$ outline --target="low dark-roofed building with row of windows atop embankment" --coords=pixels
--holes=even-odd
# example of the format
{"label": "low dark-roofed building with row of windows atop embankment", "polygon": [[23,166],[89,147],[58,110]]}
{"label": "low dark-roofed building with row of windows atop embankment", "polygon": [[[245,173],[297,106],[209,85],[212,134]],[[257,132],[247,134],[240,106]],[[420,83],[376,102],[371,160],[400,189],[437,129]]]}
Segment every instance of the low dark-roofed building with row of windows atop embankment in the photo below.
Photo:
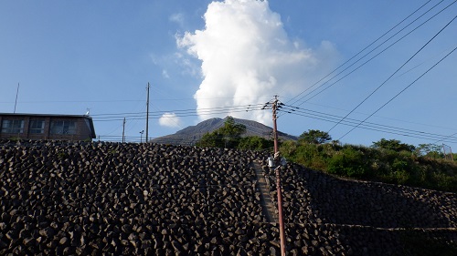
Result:
{"label": "low dark-roofed building with row of windows atop embankment", "polygon": [[89,116],[0,113],[0,138],[91,140],[96,137]]}

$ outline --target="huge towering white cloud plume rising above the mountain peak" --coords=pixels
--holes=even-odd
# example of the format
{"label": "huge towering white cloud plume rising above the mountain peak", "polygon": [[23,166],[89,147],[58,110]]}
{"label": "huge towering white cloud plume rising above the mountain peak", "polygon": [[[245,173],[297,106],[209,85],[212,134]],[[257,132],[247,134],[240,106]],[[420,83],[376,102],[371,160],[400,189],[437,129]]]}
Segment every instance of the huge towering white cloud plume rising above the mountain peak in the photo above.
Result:
{"label": "huge towering white cloud plume rising above the mountain peak", "polygon": [[[178,47],[201,61],[201,82],[194,97],[200,119],[204,109],[264,103],[272,96],[294,97],[312,85],[335,60],[335,46],[304,48],[285,32],[281,16],[268,1],[212,2],[204,30],[177,36]],[[268,111],[228,113],[271,123]]]}

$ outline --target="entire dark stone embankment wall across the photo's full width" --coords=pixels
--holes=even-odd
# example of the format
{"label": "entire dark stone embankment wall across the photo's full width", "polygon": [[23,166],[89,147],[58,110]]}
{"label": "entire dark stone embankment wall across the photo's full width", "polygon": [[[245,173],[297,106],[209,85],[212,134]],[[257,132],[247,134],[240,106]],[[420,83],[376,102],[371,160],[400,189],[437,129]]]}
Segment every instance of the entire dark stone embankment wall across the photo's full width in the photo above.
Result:
{"label": "entire dark stone embankment wall across the photo's full width", "polygon": [[[252,165],[265,159],[218,148],[3,141],[0,254],[279,255]],[[297,165],[282,175],[290,255],[414,255],[411,234],[457,243],[455,194]]]}

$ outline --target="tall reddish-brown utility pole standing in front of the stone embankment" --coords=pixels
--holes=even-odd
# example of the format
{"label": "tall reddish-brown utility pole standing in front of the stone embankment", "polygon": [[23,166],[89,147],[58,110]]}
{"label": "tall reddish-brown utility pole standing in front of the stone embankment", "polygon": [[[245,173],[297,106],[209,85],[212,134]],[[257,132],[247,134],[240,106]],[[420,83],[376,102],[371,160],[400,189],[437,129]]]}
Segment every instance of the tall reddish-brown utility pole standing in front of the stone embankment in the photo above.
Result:
{"label": "tall reddish-brown utility pole standing in front of the stone embankment", "polygon": [[273,138],[274,138],[274,157],[276,164],[276,189],[278,194],[278,220],[280,222],[280,242],[281,242],[281,255],[285,256],[285,235],[284,235],[284,221],[282,220],[282,193],[281,193],[281,173],[280,173],[280,159],[278,157],[278,128],[276,125],[276,110],[278,109],[278,97],[275,96],[273,102]]}

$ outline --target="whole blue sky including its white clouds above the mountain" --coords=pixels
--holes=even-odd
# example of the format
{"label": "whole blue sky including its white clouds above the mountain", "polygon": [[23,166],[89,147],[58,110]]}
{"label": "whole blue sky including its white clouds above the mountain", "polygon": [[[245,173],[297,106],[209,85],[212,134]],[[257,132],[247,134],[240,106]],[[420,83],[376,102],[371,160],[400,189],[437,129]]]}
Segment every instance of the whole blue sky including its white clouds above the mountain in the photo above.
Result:
{"label": "whole blue sky including its white clouds above the mountain", "polygon": [[101,140],[120,140],[126,118],[139,141],[149,82],[150,138],[227,115],[271,126],[260,105],[278,95],[292,135],[457,151],[453,2],[2,1],[0,112],[19,84],[17,113],[90,108]]}

